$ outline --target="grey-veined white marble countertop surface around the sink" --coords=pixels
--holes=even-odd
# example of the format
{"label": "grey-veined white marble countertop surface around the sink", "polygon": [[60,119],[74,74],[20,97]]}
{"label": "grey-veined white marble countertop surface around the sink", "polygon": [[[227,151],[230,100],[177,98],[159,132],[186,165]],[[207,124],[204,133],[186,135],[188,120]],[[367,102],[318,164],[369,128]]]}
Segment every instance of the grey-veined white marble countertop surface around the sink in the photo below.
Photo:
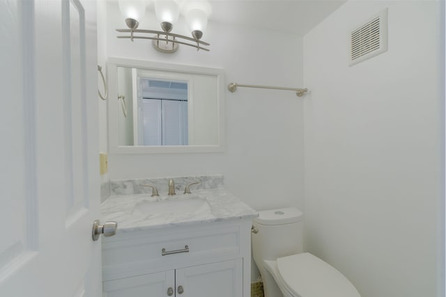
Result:
{"label": "grey-veined white marble countertop surface around the sink", "polygon": [[[144,202],[206,199],[208,204],[193,212],[141,214],[134,211],[137,204]],[[148,204],[146,204],[148,205]],[[236,196],[222,188],[193,191],[192,194],[151,197],[150,194],[115,195],[101,204],[101,221],[116,220],[118,232],[134,232],[164,227],[178,227],[200,223],[255,218],[258,212],[241,202]]]}

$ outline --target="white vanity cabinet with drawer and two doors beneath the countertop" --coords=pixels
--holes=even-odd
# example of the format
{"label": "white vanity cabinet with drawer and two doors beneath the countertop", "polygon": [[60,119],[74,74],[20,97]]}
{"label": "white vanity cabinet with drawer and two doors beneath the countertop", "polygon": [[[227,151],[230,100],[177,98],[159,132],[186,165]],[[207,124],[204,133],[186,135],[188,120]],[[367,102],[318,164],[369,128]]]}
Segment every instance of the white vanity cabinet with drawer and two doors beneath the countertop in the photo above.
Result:
{"label": "white vanity cabinet with drawer and two doors beneath the countertop", "polygon": [[103,239],[104,296],[250,296],[251,222],[123,230]]}

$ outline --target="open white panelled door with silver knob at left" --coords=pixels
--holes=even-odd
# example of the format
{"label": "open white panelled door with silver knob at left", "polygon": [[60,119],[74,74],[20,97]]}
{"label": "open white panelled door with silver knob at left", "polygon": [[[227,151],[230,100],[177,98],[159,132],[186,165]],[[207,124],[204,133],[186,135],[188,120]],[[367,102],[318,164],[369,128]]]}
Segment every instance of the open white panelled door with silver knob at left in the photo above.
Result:
{"label": "open white panelled door with silver knob at left", "polygon": [[95,2],[0,0],[0,296],[100,296]]}

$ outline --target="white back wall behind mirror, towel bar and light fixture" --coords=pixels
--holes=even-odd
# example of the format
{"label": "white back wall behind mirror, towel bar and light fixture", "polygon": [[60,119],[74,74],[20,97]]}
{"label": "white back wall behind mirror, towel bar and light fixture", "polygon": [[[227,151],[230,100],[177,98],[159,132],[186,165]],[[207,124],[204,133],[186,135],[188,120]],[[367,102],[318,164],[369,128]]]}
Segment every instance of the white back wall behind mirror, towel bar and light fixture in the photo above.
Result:
{"label": "white back wall behind mirror, towel bar and light fixture", "polygon": [[[302,86],[302,38],[210,23],[203,36],[210,52],[180,47],[162,54],[150,40],[116,38],[115,29],[125,24],[117,3],[107,3],[101,13],[107,27],[98,33],[100,42],[107,39],[105,56],[222,68],[227,83]],[[155,17],[146,15],[152,20],[140,27],[157,29]],[[174,31],[189,35],[181,24]],[[240,88],[225,95],[224,153],[109,155],[109,178],[222,173],[226,188],[254,209],[303,207],[303,100],[281,90]]]}

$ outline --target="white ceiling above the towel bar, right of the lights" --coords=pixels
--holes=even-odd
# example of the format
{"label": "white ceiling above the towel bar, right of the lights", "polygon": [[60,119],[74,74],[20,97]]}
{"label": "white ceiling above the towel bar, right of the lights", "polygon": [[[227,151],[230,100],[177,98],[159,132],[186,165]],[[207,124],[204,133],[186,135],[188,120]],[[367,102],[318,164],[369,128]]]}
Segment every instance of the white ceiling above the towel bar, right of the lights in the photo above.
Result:
{"label": "white ceiling above the towel bar, right of the lights", "polygon": [[346,0],[210,0],[210,22],[305,35]]}

